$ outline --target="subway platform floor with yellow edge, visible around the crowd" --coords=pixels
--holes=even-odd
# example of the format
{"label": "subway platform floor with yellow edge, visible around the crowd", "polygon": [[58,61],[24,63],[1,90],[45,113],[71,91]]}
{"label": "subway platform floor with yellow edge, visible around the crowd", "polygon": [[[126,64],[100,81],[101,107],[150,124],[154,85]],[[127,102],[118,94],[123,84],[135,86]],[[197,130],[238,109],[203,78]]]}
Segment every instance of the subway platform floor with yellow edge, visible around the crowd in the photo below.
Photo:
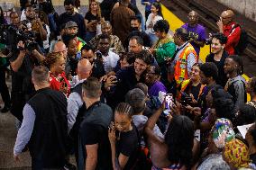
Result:
{"label": "subway platform floor with yellow edge, visible around the crowd", "polygon": [[[168,0],[169,1],[169,0]],[[13,0],[11,1],[15,6],[19,5],[19,1]],[[5,1],[0,0],[0,4],[5,3]],[[79,12],[82,15],[85,15],[87,13],[87,3],[88,1],[81,1],[82,6],[79,10]],[[64,12],[64,6],[63,1],[53,1],[54,7],[58,13]],[[144,6],[141,4],[141,1],[137,1],[137,6],[139,10],[141,11],[143,17],[144,17]],[[184,24],[185,21],[182,21],[178,15],[171,12],[171,8],[165,3],[162,4],[162,13],[164,19],[166,19],[169,22],[170,25],[170,34],[172,34],[177,28],[179,28],[181,25]],[[209,46],[205,46],[200,51],[200,60],[201,62],[205,62],[206,55],[209,53]],[[250,61],[248,61],[248,66]],[[253,61],[251,61],[253,62]],[[253,63],[252,63],[253,64]],[[256,66],[256,65],[254,65]],[[247,65],[245,66],[247,67]],[[250,72],[249,69],[247,69],[247,72]],[[256,73],[255,73],[256,74]],[[251,75],[254,75],[251,74]],[[245,79],[248,80],[249,76],[243,75]],[[8,84],[10,86],[10,83]],[[0,100],[0,105],[3,105],[2,100]],[[21,161],[20,162],[14,162],[13,158],[13,148],[14,148],[14,142],[16,138],[17,130],[15,128],[15,119],[14,116],[8,112],[8,113],[0,113],[0,169],[14,169],[14,170],[26,170],[31,169],[31,158],[29,156],[29,153],[23,153],[21,155]]]}

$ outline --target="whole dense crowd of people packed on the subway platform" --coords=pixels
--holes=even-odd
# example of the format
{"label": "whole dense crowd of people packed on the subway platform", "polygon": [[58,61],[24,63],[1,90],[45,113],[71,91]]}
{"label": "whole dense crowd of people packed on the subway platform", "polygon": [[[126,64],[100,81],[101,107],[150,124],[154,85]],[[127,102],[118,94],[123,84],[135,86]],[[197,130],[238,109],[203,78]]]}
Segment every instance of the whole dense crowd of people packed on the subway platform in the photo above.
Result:
{"label": "whole dense crowd of people packed on the subway platform", "polygon": [[61,14],[21,2],[0,18],[16,161],[29,150],[34,170],[256,169],[256,77],[242,77],[232,10],[210,36],[196,11],[171,36],[159,0],[142,1],[146,18],[133,0],[90,0],[85,16],[74,0]]}

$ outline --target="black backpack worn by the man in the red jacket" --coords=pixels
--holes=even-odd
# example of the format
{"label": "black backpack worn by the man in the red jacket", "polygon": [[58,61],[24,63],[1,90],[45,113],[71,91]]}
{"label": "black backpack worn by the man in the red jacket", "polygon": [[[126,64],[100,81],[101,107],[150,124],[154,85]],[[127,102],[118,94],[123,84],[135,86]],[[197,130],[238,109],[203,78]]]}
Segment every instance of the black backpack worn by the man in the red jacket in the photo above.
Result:
{"label": "black backpack worn by the man in the red jacket", "polygon": [[238,41],[238,44],[234,47],[234,52],[235,54],[242,54],[244,49],[246,49],[247,45],[248,45],[248,34],[247,32],[242,28],[241,25],[236,24],[234,25],[233,29],[231,30],[231,32],[237,28],[240,27],[241,29],[241,34],[240,34],[240,38]]}

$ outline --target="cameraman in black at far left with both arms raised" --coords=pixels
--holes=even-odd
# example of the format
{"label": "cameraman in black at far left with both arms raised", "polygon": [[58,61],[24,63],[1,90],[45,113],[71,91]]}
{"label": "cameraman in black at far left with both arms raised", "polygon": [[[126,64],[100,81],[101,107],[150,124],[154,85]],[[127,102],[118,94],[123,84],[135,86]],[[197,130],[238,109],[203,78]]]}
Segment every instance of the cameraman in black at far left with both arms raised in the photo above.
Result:
{"label": "cameraman in black at far left with both arms raised", "polygon": [[23,106],[32,96],[33,87],[31,81],[32,68],[39,65],[44,59],[37,49],[29,51],[20,40],[16,52],[10,58],[12,73],[12,108],[11,112],[19,120],[23,120]]}

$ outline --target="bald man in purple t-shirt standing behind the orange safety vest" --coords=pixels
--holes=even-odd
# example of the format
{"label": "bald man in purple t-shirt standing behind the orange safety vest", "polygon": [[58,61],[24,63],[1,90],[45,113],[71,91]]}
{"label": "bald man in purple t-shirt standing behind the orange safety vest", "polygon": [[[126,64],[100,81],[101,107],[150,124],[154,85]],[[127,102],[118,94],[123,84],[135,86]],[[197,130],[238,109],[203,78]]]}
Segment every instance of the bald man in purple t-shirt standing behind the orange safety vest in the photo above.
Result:
{"label": "bald man in purple t-shirt standing behind the orange safety vest", "polygon": [[197,12],[189,12],[187,18],[188,22],[181,27],[187,30],[189,41],[196,50],[197,56],[199,56],[200,48],[205,46],[206,28],[198,23],[199,17]]}

